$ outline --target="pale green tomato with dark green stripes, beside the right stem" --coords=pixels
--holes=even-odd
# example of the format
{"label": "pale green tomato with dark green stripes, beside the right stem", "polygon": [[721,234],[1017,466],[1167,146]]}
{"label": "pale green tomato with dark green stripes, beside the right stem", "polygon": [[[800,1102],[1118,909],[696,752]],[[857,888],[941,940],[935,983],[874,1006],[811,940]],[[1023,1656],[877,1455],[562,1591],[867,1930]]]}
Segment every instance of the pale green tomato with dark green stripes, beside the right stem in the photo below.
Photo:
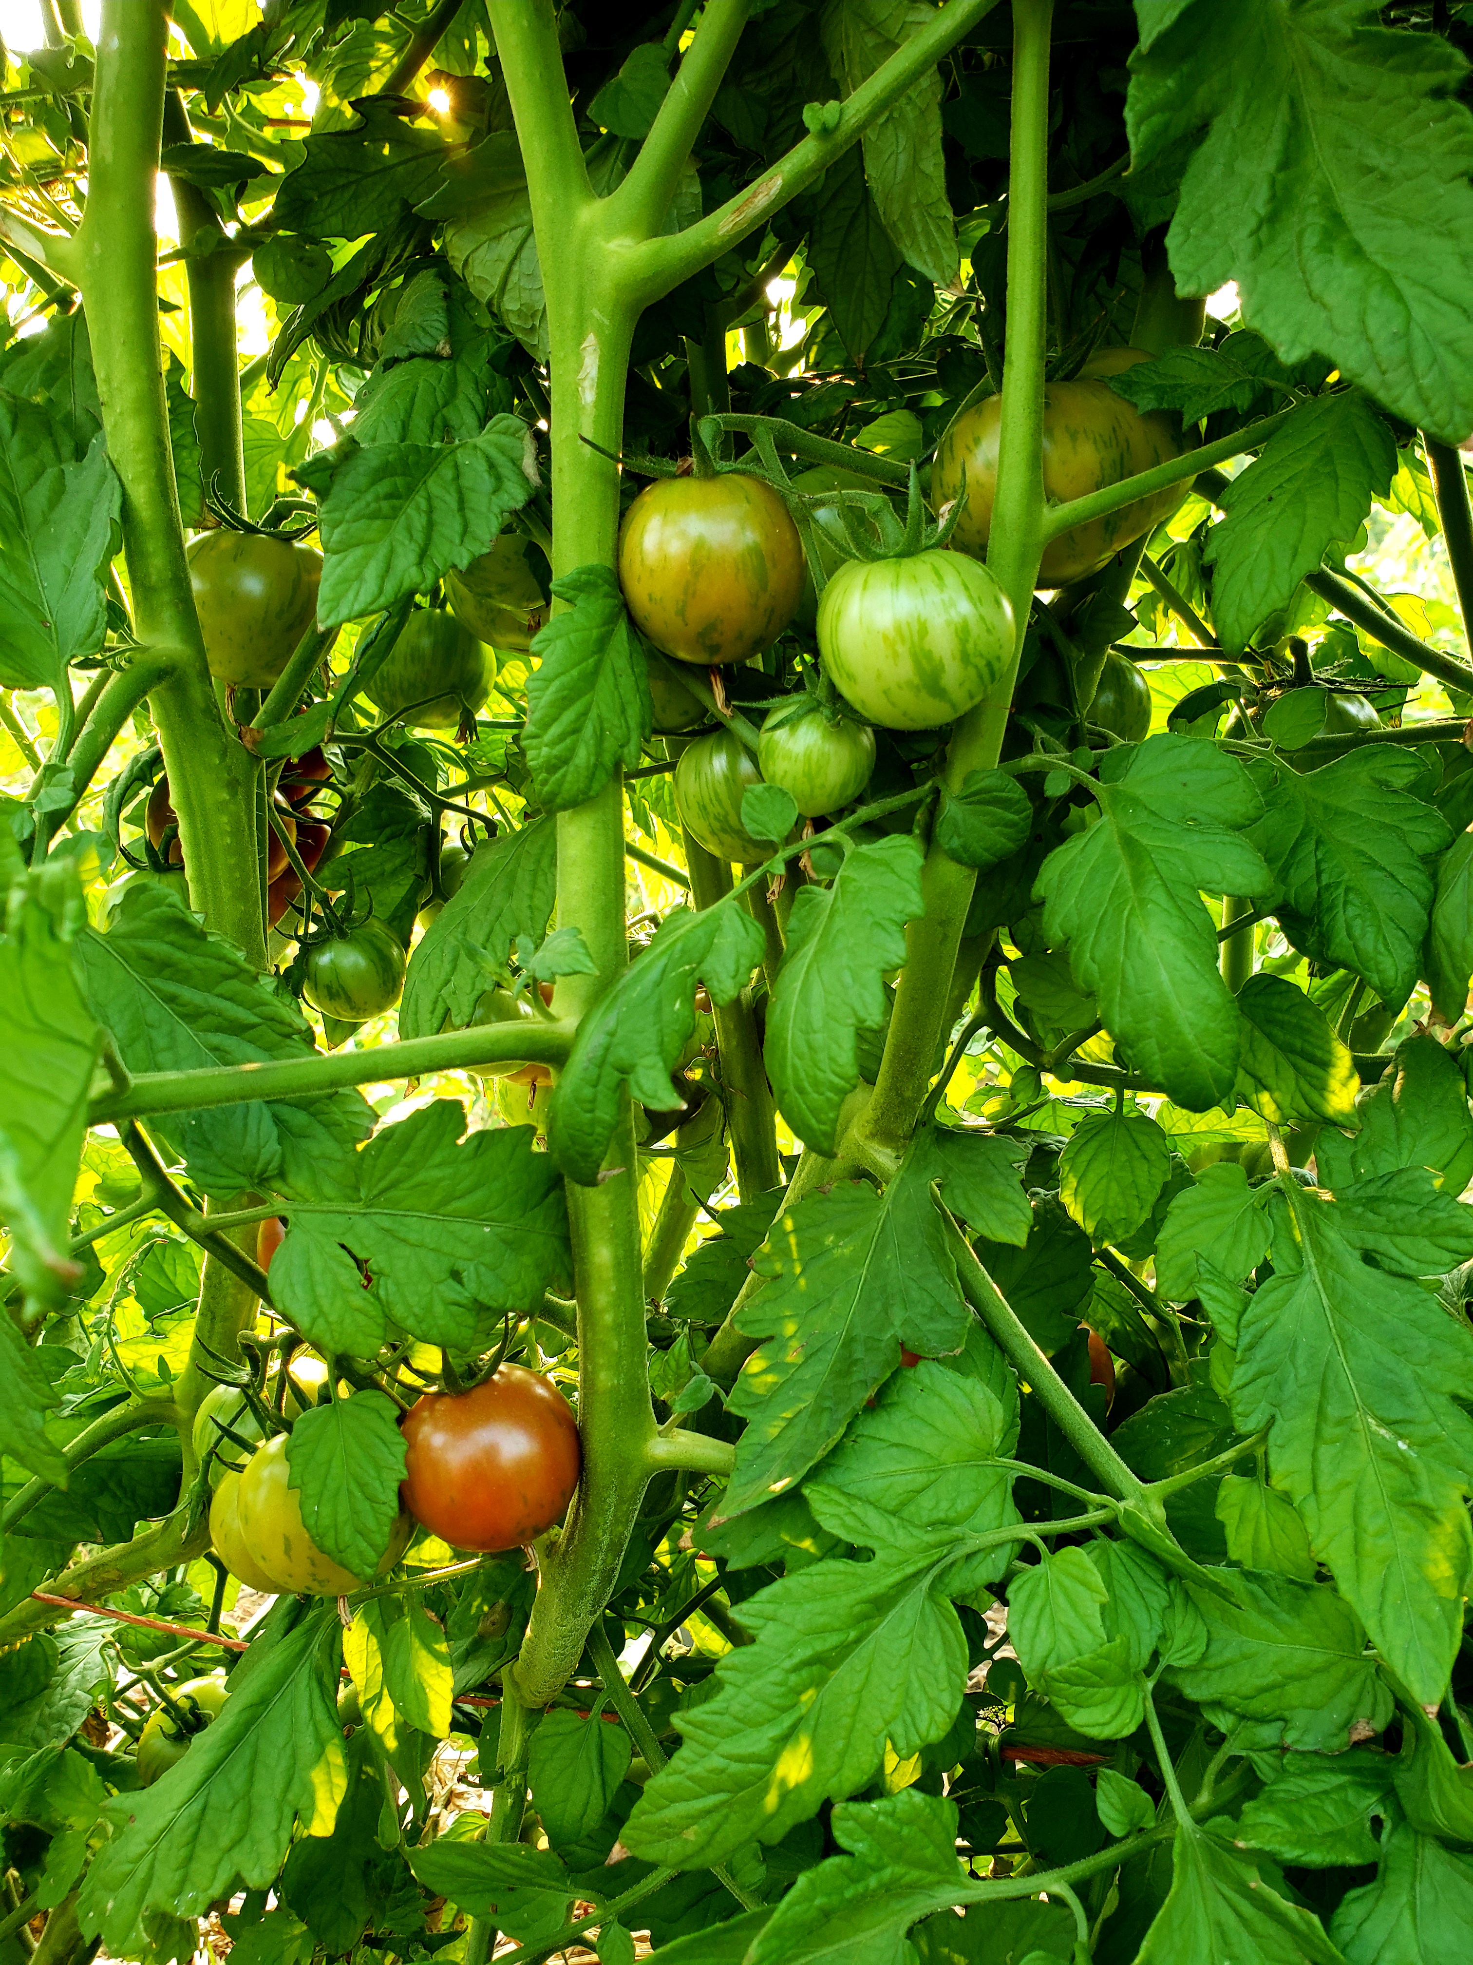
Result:
{"label": "pale green tomato with dark green stripes, beside the right stem", "polygon": [[1013,609],[986,566],[960,552],[848,560],[819,601],[819,656],[870,723],[939,729],[1008,672]]}

